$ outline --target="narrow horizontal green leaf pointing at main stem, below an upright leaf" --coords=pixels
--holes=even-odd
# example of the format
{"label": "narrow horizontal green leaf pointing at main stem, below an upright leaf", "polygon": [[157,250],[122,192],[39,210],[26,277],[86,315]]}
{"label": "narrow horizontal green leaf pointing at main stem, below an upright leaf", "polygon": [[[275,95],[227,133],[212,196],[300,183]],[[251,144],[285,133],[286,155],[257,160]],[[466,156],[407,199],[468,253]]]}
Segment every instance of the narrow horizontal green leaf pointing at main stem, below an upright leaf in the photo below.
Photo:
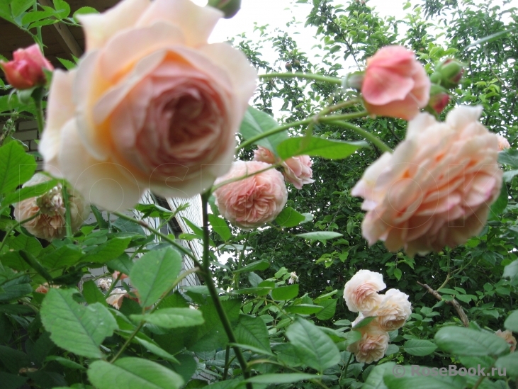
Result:
{"label": "narrow horizontal green leaf pointing at main stem, below an upright leaf", "polygon": [[162,308],[145,315],[131,315],[131,318],[139,322],[144,320],[163,328],[192,327],[202,325],[204,322],[201,312],[191,308]]}

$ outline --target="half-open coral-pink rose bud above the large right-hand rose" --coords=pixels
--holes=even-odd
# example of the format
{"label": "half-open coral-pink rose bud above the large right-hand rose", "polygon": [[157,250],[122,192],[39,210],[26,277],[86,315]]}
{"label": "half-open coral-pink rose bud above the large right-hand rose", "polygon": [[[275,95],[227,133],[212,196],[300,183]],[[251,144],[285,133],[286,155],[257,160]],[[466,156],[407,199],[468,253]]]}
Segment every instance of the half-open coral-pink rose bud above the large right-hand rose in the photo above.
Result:
{"label": "half-open coral-pink rose bud above the large right-hand rose", "polygon": [[410,120],[427,106],[430,80],[413,52],[386,46],[368,58],[361,94],[367,111]]}

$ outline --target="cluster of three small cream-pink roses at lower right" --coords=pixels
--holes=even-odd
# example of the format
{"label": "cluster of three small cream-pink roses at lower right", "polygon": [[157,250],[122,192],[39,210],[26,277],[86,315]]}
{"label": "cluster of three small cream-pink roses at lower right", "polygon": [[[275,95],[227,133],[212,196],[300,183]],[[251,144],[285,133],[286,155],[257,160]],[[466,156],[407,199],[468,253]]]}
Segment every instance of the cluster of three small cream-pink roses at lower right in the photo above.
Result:
{"label": "cluster of three small cream-pink roses at lower right", "polygon": [[379,294],[387,286],[379,273],[360,270],[345,284],[344,299],[351,312],[359,312],[352,323],[358,325],[366,317],[376,317],[368,325],[359,327],[361,339],[350,344],[347,351],[354,353],[356,361],[371,363],[379,361],[388,348],[388,332],[402,327],[412,313],[408,295],[389,289]]}

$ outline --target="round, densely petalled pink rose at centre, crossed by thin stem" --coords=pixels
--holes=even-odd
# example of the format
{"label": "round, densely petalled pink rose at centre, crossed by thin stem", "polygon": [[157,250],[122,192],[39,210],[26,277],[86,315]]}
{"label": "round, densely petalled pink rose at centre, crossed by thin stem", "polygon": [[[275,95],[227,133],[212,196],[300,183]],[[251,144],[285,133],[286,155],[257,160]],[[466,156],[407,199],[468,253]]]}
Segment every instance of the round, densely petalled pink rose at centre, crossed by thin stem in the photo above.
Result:
{"label": "round, densely petalled pink rose at centre, crossed by thin stem", "polygon": [[[237,161],[225,175],[215,181],[220,184],[230,179],[252,174],[271,167],[264,162]],[[275,220],[286,205],[288,191],[281,172],[269,169],[246,179],[234,181],[214,192],[221,215],[243,229],[260,227]]]}

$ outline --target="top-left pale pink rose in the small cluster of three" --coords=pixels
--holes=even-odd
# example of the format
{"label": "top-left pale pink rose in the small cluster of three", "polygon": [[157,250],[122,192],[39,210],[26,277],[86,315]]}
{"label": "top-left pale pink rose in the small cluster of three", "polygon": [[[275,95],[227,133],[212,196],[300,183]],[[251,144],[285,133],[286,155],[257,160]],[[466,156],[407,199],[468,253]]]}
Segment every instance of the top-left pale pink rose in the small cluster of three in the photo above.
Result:
{"label": "top-left pale pink rose in the small cluster of three", "polygon": [[375,309],[381,301],[378,291],[387,286],[383,276],[370,270],[359,270],[347,281],[344,300],[351,312],[365,312]]}

